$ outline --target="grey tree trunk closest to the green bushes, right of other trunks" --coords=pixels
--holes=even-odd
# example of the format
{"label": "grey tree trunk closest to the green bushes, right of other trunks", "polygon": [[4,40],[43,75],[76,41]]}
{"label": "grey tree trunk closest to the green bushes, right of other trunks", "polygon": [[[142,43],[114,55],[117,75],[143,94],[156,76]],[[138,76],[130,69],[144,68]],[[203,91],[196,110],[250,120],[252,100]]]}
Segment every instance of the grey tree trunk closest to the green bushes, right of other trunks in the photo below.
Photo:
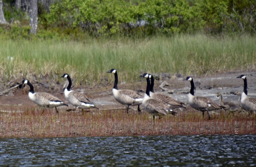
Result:
{"label": "grey tree trunk closest to the green bushes, right of other trunks", "polygon": [[29,17],[30,33],[35,35],[38,28],[38,0],[30,0]]}

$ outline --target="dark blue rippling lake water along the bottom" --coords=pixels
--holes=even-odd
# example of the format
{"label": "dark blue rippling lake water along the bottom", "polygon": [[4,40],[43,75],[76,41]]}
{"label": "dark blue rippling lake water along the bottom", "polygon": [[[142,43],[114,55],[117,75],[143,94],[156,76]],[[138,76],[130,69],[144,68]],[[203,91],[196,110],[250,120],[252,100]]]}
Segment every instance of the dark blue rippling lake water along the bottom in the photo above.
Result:
{"label": "dark blue rippling lake water along the bottom", "polygon": [[256,135],[0,139],[0,166],[256,166]]}

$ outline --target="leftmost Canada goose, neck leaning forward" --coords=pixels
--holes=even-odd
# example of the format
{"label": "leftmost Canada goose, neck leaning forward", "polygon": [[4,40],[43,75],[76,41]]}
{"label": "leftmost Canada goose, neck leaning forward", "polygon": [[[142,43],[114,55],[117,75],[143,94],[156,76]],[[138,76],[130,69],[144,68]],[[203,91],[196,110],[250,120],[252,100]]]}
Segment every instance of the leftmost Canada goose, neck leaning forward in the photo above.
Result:
{"label": "leftmost Canada goose, neck leaning forward", "polygon": [[[53,96],[49,93],[34,92],[34,87],[33,87],[32,83],[30,83],[26,79],[24,79],[22,81],[22,83],[20,83],[20,85],[21,84],[27,84],[30,87],[29,99],[40,107],[44,107],[44,108],[54,108],[55,107],[56,113],[58,113],[57,107],[68,106],[67,104],[64,104],[64,102],[62,102],[59,98],[56,98],[55,96]],[[44,112],[44,110],[43,110],[43,112]]]}

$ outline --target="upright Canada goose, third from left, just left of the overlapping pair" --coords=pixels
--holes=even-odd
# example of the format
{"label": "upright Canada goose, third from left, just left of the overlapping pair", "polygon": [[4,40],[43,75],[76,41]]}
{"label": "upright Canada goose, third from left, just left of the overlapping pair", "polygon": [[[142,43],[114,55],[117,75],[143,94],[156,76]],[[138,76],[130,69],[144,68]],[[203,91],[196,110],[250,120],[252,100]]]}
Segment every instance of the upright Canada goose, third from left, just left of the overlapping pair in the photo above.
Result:
{"label": "upright Canada goose, third from left, just left of the overlapping pair", "polygon": [[116,99],[116,101],[118,101],[119,103],[121,103],[123,105],[127,105],[127,108],[126,108],[127,113],[129,110],[129,106],[138,106],[138,112],[140,114],[140,112],[141,112],[140,104],[142,104],[143,96],[133,90],[128,90],[128,89],[119,90],[117,88],[118,76],[117,76],[116,69],[111,69],[107,73],[113,73],[115,75],[115,83],[114,83],[112,92],[113,92],[113,96]]}

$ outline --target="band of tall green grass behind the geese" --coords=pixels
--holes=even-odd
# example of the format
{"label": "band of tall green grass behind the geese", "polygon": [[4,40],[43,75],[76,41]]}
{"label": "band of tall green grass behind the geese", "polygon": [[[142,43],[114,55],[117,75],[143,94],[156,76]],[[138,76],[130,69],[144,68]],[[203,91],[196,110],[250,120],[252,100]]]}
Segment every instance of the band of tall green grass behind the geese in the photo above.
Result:
{"label": "band of tall green grass behind the geese", "polygon": [[[69,73],[77,85],[101,85],[112,68],[119,81],[135,82],[140,72],[211,75],[256,69],[256,38],[176,35],[146,39],[87,39],[86,41],[3,40],[1,77],[49,78]],[[9,57],[9,58],[8,58]],[[13,57],[13,60],[11,60]]]}

